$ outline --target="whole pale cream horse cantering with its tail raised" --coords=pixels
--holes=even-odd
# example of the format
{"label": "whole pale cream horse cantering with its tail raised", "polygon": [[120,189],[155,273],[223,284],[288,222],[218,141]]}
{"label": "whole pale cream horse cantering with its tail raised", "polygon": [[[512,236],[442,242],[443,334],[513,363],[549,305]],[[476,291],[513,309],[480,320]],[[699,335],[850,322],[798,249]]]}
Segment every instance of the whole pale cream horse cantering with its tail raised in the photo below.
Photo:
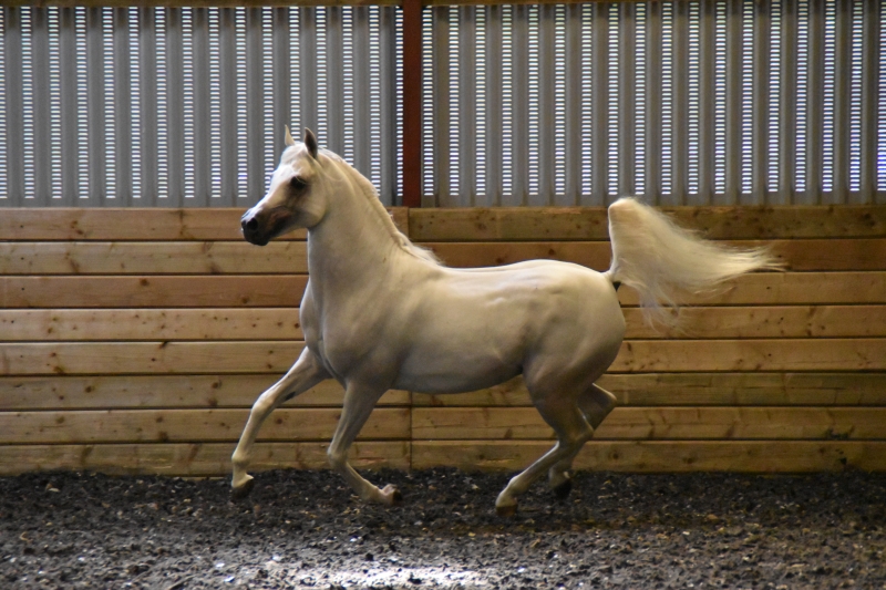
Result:
{"label": "whole pale cream horse cantering with its tail raised", "polygon": [[507,484],[495,501],[511,515],[517,496],[548,474],[568,494],[573,458],[611,412],[615,396],[595,381],[618,354],[625,319],[616,289],[636,289],[650,315],[668,315],[681,292],[772,266],[760,250],[728,250],[676,227],[631,198],[609,207],[612,266],[606,272],[550,260],[453,269],[394,227],[369,180],[319,149],[310,131],[287,149],[265,198],[243,216],[243,234],[264,246],[308,229],[310,280],[301,301],[307,346],[296,364],[253,405],[231,457],[235,496],[261,422],[280,403],[320,381],[344,387],[329,446],[331,466],[361,498],[392,505],[348,463],[348,448],[390,389],[457,393],[523,374],[533,404],[556,433],[554,447]]}

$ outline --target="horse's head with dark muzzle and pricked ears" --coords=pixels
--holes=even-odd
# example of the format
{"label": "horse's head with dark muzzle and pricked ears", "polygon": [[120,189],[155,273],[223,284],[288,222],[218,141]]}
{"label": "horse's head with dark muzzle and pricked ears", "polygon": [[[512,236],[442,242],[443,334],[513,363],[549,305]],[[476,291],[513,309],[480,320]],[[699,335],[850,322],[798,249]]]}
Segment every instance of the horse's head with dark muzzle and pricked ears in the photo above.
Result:
{"label": "horse's head with dark muzzle and pricked ears", "polygon": [[257,246],[299,227],[311,228],[326,214],[322,190],[313,190],[322,182],[317,137],[305,130],[305,142],[297,144],[287,127],[286,145],[265,198],[240,219],[244,238]]}

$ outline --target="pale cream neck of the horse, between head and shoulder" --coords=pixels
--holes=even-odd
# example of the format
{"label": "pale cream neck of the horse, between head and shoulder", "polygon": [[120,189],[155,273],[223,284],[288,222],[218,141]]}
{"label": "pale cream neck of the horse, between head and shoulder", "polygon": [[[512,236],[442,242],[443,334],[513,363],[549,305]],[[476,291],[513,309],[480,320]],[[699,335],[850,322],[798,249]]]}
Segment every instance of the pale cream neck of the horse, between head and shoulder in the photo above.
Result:
{"label": "pale cream neck of the horse, between head and shoulder", "polygon": [[308,231],[308,267],[312,289],[321,297],[348,297],[378,284],[393,258],[405,252],[391,235],[390,218],[361,183],[336,196],[322,221]]}

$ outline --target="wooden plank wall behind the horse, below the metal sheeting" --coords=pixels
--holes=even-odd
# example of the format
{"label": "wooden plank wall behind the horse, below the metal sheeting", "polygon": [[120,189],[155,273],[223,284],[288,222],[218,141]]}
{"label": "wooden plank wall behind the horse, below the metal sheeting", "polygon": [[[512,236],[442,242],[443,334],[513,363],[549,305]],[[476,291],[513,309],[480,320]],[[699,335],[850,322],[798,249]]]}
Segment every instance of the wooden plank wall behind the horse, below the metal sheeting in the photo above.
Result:
{"label": "wooden plank wall behind the horse, below the metal sheeting", "polygon": [[[744,277],[645,325],[601,385],[621,405],[580,468],[886,469],[886,207],[686,208],[787,271]],[[222,475],[255,397],[303,343],[305,235],[257,248],[235,209],[7,209],[0,217],[0,474],[73,468]],[[452,266],[609,263],[602,209],[396,209]],[[256,470],[316,468],[341,390],[266,422]],[[519,380],[451,396],[389,392],[358,467],[515,470],[552,445]]]}

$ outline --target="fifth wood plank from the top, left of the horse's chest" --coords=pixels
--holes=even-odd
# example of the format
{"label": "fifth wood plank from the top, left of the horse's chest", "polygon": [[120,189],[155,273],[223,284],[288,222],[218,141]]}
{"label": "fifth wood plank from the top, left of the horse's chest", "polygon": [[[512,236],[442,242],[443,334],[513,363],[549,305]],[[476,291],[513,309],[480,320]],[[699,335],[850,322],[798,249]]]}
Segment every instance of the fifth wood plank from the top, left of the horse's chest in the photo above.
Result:
{"label": "fifth wood plank from the top, left of the horse's chest", "polygon": [[6,375],[280,373],[303,342],[53,342],[6,344]]}

